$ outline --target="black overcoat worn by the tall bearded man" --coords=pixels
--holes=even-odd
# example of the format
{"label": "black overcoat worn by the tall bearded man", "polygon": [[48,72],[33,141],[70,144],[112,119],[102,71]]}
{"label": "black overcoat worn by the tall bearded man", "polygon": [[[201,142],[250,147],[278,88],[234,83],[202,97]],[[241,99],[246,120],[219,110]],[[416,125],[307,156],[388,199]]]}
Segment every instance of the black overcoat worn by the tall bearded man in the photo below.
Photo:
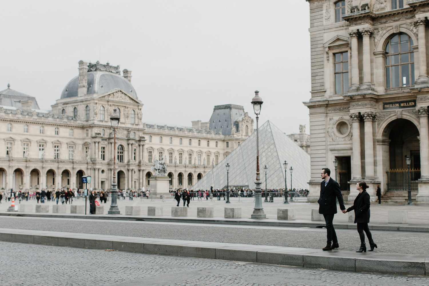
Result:
{"label": "black overcoat worn by the tall bearded man", "polygon": [[336,214],[337,201],[341,210],[345,210],[343,195],[341,194],[340,185],[332,178],[329,178],[325,187],[325,180],[320,183],[319,214]]}

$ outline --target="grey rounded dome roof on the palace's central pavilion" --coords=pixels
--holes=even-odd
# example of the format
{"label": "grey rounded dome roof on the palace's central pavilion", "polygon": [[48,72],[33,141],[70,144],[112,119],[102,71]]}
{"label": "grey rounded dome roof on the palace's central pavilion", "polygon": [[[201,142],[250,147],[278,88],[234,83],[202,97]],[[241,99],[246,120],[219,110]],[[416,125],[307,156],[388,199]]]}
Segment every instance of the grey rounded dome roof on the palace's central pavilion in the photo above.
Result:
{"label": "grey rounded dome roof on the palace's central pavilion", "polygon": [[[79,76],[76,76],[64,87],[61,99],[78,96]],[[88,72],[88,89],[86,94],[103,94],[110,90],[120,88],[130,96],[138,99],[136,90],[130,81],[121,75],[112,72],[95,71]]]}

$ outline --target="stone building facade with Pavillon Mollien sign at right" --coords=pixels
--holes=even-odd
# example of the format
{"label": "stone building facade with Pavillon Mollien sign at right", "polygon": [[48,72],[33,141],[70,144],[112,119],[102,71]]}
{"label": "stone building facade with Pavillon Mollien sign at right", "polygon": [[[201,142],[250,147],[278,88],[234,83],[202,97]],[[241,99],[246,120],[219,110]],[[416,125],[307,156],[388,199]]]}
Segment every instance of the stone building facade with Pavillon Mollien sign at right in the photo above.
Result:
{"label": "stone building facade with Pavillon Mollien sign at right", "polygon": [[[332,170],[348,199],[365,180],[376,199],[407,190],[429,202],[428,0],[307,0],[310,8],[311,181]],[[338,160],[337,174],[334,172]]]}

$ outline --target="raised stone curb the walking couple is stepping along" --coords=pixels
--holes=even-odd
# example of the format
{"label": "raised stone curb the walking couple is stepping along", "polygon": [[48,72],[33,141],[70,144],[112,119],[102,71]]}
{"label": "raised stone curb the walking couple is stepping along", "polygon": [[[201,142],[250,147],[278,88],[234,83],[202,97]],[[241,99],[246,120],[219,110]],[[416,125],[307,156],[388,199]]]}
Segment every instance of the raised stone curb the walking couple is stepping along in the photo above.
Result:
{"label": "raised stone curb the walking couple is stepping along", "polygon": [[376,252],[355,253],[341,250],[323,251],[298,247],[183,241],[25,229],[0,229],[0,240],[357,272],[408,275],[429,274],[428,255]]}

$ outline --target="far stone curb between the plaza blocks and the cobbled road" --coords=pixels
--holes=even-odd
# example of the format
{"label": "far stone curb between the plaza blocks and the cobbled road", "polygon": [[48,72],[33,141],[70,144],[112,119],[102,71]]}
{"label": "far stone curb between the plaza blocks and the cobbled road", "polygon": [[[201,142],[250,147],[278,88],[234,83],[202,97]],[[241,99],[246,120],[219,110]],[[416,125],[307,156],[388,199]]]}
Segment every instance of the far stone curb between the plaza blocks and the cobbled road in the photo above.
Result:
{"label": "far stone curb between the plaza blocks and the cobbled road", "polygon": [[[71,218],[71,219],[91,219],[91,220],[143,220],[149,222],[168,222],[168,223],[210,223],[210,224],[230,224],[242,226],[284,226],[284,227],[320,227],[325,223],[312,222],[309,220],[255,220],[255,219],[225,219],[223,217],[215,218],[197,218],[197,217],[170,217],[170,216],[127,216],[112,214],[42,214],[42,213],[20,213],[20,212],[0,212],[0,216],[12,217],[54,217],[54,218]],[[335,229],[356,229],[355,223],[334,223]],[[396,223],[369,224],[371,230],[383,230],[394,232],[429,232],[428,226],[419,225],[401,225]]]}

